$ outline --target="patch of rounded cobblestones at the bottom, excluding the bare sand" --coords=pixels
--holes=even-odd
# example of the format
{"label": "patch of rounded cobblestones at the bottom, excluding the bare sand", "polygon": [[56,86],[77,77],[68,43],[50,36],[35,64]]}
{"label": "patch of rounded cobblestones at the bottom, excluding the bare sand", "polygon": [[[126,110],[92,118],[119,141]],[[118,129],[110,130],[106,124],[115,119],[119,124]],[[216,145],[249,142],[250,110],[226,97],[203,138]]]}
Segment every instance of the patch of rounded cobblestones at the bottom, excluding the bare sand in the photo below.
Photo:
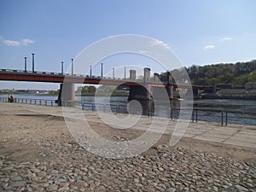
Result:
{"label": "patch of rounded cobblestones at the bottom, excluding the bare sand", "polygon": [[49,159],[14,163],[8,156],[0,156],[0,191],[256,189],[255,163],[246,164],[193,149],[161,144],[150,153],[112,160],[81,150],[79,145],[52,142],[41,147],[48,151]]}

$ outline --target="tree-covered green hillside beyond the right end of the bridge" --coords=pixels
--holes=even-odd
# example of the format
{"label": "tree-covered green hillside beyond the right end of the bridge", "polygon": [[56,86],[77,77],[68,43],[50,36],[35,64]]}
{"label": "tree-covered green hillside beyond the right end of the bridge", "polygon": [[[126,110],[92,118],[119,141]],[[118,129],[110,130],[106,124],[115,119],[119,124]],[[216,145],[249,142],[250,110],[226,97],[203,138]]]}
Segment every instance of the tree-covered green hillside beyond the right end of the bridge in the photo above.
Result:
{"label": "tree-covered green hillside beyond the right end of the bridge", "polygon": [[[232,84],[233,87],[244,87],[247,82],[256,81],[256,60],[247,62],[220,63],[216,65],[188,67],[172,70],[177,77],[185,77],[189,74],[191,84]],[[166,80],[166,73],[159,75],[162,81]],[[175,80],[175,79],[174,79]]]}

